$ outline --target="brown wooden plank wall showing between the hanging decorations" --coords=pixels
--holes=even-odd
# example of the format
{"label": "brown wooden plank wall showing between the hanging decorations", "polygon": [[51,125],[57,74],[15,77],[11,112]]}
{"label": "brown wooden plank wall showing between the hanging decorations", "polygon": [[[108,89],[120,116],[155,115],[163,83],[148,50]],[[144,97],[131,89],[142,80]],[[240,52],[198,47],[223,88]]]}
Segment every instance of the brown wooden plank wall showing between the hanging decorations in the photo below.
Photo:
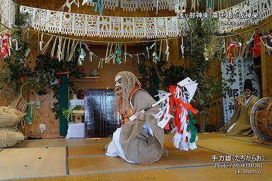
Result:
{"label": "brown wooden plank wall showing between the hanging decorations", "polygon": [[[54,11],[59,11],[61,6],[64,4],[66,0],[37,0],[37,1],[29,1],[29,0],[18,0],[18,4],[21,4],[23,6],[32,6],[36,8],[45,8],[50,9]],[[99,13],[93,12],[93,8],[90,6],[80,6],[79,9],[76,8],[75,5],[71,8],[72,13],[85,13],[85,14],[93,14],[98,15]],[[121,11],[119,11],[121,10]],[[64,11],[67,11],[67,8],[64,9]],[[122,11],[122,9],[117,9],[115,11],[105,10],[104,12],[105,16],[156,16],[155,11],[135,11],[135,12],[129,12],[129,11]],[[159,11],[158,16],[175,16],[174,12],[170,11]],[[30,35],[34,33],[35,30],[30,30]],[[71,35],[67,35],[67,37],[73,37]],[[78,37],[77,37],[78,38]],[[102,37],[82,37],[85,40],[100,40],[100,41],[109,41],[109,42],[117,42],[117,41],[136,41],[140,39],[132,39],[132,38],[102,38]],[[131,53],[133,52],[139,52],[138,49],[134,46],[135,43],[129,44],[131,47],[130,49]],[[180,40],[173,39],[169,41],[170,46],[170,61],[168,62],[167,66],[170,64],[175,65],[182,65],[183,61],[181,59],[180,54]],[[97,54],[100,57],[105,57],[107,43],[90,43],[90,48],[92,51]],[[35,57],[39,54],[38,52],[38,33],[36,32],[34,35],[32,35],[32,47],[31,47],[31,53],[30,58],[32,60],[35,60]],[[129,50],[128,50],[129,51]],[[87,76],[90,76],[91,69],[97,69],[98,62],[89,62],[88,56],[85,58],[84,63],[84,71]],[[100,81],[74,81],[76,86],[78,88],[113,88],[114,82],[113,78],[114,75],[117,74],[118,71],[126,70],[126,71],[132,71],[136,76],[141,76],[138,74],[138,68],[136,57],[131,59],[130,57],[127,57],[128,61],[126,64],[121,65],[113,65],[111,64],[103,64],[103,69],[99,69],[100,71]],[[267,58],[268,59],[268,58]],[[34,66],[34,64],[33,64]],[[215,66],[214,69],[215,73],[218,74],[218,78],[220,80],[220,66]],[[267,85],[267,84],[266,84]],[[47,95],[42,95],[38,97],[38,100],[40,100],[40,110],[39,117],[36,122],[33,122],[30,126],[26,127],[26,136],[34,136],[34,137],[42,137],[42,138],[57,138],[59,136],[59,120],[54,119],[54,113],[52,112],[51,108],[53,107],[54,99],[52,98],[54,93],[52,91],[47,91]],[[30,99],[33,99],[33,96],[30,96]],[[1,101],[1,100],[0,100]],[[0,102],[0,105],[2,103]],[[209,122],[211,124],[216,124],[218,120],[221,119],[221,110],[220,107],[220,100],[218,100],[218,104],[215,107],[212,107],[208,110],[209,112]],[[46,130],[42,134],[39,132],[39,125],[45,124]]]}

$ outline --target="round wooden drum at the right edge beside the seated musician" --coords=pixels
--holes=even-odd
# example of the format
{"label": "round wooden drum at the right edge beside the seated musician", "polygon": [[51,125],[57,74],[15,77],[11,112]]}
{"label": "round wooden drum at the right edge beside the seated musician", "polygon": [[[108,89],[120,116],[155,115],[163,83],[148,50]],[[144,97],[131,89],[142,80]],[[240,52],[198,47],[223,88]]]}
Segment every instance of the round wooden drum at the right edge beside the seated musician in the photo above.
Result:
{"label": "round wooden drum at the right edge beside the seated musician", "polygon": [[260,139],[272,141],[272,98],[262,98],[255,103],[250,124]]}

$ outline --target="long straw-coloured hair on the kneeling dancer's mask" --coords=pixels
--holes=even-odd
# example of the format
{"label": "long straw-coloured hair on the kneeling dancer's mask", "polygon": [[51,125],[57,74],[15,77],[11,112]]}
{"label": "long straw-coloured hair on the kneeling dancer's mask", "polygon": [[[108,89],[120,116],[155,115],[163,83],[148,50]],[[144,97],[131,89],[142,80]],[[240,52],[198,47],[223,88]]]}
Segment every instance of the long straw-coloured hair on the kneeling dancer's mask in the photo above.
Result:
{"label": "long straw-coloured hair on the kneeling dancer's mask", "polygon": [[[114,92],[114,112],[118,111],[119,107],[119,98],[122,94],[122,112],[126,112],[127,107],[129,106],[129,94],[132,89],[137,85],[141,88],[141,83],[138,81],[138,78],[130,71],[120,71],[116,76],[121,76],[122,81],[122,93]],[[121,110],[120,110],[121,111]]]}

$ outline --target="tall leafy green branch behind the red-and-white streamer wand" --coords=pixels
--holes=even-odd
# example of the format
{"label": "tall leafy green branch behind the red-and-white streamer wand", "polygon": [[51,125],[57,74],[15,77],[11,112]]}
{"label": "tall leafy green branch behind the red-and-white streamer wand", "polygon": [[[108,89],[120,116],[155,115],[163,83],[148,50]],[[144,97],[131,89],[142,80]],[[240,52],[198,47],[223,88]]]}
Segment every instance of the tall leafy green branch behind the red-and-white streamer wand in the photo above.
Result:
{"label": "tall leafy green branch behind the red-and-white streamer wand", "polygon": [[191,35],[191,48],[185,54],[188,66],[185,75],[196,80],[198,89],[196,91],[197,108],[200,111],[215,105],[215,100],[223,94],[224,84],[218,75],[214,75],[215,66],[220,67],[220,60],[206,59],[204,51],[206,45],[215,36],[218,23],[213,19],[190,19],[187,35]]}

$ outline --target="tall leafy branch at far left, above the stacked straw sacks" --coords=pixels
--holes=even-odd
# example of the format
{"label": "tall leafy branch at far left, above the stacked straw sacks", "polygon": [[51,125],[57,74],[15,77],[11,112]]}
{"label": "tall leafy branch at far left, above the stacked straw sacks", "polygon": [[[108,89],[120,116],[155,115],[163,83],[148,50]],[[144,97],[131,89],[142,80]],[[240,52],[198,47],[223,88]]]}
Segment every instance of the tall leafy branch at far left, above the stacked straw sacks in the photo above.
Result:
{"label": "tall leafy branch at far left, above the stacked straw sacks", "polygon": [[6,94],[2,94],[5,98],[12,99],[18,93],[23,83],[28,81],[28,78],[32,78],[32,70],[30,69],[31,61],[25,57],[25,52],[28,51],[30,46],[28,29],[24,28],[28,16],[28,13],[16,13],[15,24],[12,25],[11,37],[13,40],[17,40],[18,49],[16,49],[16,44],[13,43],[10,49],[11,56],[4,59],[4,64],[0,67],[0,89],[5,88],[4,92]]}

